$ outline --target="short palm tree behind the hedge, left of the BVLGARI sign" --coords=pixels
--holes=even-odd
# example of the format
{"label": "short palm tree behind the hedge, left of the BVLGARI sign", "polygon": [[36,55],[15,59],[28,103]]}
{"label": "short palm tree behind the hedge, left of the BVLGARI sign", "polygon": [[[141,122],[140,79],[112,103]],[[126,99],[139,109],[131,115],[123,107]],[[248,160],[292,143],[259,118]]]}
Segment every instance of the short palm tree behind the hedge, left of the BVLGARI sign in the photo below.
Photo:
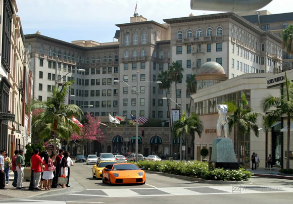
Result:
{"label": "short palm tree behind the hedge, left of the BVLGARI sign", "polygon": [[[186,118],[184,111],[182,113],[182,117],[173,124],[173,128],[172,128],[174,139],[181,138],[181,136],[183,136],[183,134],[185,133],[187,153],[188,153],[188,136],[189,135],[193,136],[195,133],[198,133],[199,137],[201,138],[203,130],[204,130],[204,123],[200,120],[197,114],[193,113],[191,114],[191,116]],[[181,153],[182,152],[180,152],[180,154]]]}

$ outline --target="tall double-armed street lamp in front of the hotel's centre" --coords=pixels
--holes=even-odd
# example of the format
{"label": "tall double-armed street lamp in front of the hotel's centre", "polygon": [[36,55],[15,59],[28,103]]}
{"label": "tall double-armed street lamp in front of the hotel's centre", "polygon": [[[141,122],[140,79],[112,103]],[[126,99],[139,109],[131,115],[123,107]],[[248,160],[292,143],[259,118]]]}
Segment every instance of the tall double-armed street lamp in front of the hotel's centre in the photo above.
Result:
{"label": "tall double-armed street lamp in front of the hotel's centre", "polygon": [[[157,84],[161,84],[162,82],[161,81],[138,81],[138,71],[137,71],[137,74],[136,74],[136,135],[135,135],[135,162],[137,162],[137,155],[138,155],[138,95],[141,91],[144,91],[144,89],[146,87],[148,87],[149,85],[151,85],[151,83],[157,83]],[[114,80],[114,82],[123,82],[125,83],[127,86],[129,86],[128,83],[126,83],[125,81],[120,81],[120,80]],[[129,82],[135,82],[135,81],[129,81]],[[144,82],[144,83],[149,83],[148,85],[146,85],[142,90],[139,90],[138,91],[138,82]],[[131,86],[129,86],[132,89]]]}

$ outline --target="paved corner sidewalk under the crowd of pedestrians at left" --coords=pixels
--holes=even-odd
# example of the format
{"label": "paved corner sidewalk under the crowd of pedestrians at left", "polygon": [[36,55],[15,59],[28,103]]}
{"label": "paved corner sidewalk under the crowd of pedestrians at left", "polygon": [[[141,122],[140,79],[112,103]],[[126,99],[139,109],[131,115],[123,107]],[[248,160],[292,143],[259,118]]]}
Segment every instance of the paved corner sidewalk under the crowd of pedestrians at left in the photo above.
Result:
{"label": "paved corner sidewalk under the crowd of pedestrians at left", "polygon": [[[29,181],[23,181],[23,186],[26,187],[25,189],[17,189],[12,186],[12,182],[14,179],[13,172],[9,172],[9,185],[6,186],[7,190],[2,190],[0,189],[0,200],[2,199],[10,199],[10,198],[25,198],[25,197],[32,197],[32,196],[39,196],[43,194],[59,194],[59,193],[65,193],[65,192],[70,192],[73,190],[73,188],[52,188],[50,191],[49,190],[28,190],[29,187]],[[70,183],[74,182],[75,179],[72,179],[70,177]]]}

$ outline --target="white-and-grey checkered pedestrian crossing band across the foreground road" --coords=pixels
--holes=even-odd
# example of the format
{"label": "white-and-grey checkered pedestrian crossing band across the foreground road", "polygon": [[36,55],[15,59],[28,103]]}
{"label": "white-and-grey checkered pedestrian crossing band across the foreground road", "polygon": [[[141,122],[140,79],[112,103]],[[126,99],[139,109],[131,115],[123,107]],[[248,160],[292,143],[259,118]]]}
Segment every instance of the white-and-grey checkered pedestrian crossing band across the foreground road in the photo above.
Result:
{"label": "white-and-grey checkered pedestrian crossing band across the foreground road", "polygon": [[293,187],[284,186],[197,186],[197,187],[160,187],[160,188],[109,188],[87,189],[68,195],[90,197],[149,197],[174,195],[210,195],[236,193],[280,193],[293,192]]}

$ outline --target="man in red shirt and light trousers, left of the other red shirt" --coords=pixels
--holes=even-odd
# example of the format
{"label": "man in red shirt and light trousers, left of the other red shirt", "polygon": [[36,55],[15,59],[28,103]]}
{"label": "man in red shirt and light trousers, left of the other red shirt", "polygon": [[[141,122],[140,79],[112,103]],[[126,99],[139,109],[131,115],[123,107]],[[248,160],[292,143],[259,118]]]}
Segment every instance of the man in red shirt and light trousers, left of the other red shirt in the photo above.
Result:
{"label": "man in red shirt and light trousers, left of the other red shirt", "polygon": [[42,160],[39,156],[39,149],[34,150],[34,155],[31,157],[31,170],[33,170],[33,176],[34,176],[34,189],[41,190],[38,188],[39,182],[41,180],[41,172],[43,171],[42,168]]}

